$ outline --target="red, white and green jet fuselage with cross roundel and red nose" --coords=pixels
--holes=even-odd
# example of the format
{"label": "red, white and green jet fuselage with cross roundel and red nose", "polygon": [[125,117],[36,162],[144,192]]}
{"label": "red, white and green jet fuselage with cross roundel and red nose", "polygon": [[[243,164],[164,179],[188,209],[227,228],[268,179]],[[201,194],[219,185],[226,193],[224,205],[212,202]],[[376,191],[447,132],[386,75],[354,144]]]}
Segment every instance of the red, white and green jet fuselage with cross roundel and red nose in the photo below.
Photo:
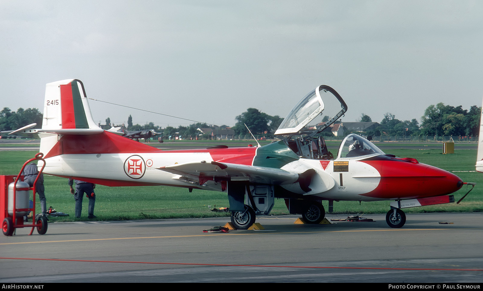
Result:
{"label": "red, white and green jet fuselage with cross roundel and red nose", "polygon": [[[299,174],[313,169],[315,175],[312,176],[309,192],[301,189],[298,183],[290,179],[280,181],[279,185],[299,194],[300,197],[313,195],[320,197],[321,200],[350,201],[440,196],[453,193],[462,186],[461,179],[454,174],[414,159],[401,159],[390,155],[373,154],[335,160],[306,159],[293,154],[288,146],[284,149],[282,142],[258,148],[161,151],[130,140],[125,141],[130,147],[140,147],[140,151],[122,152],[120,148],[114,148],[114,144],[109,145],[110,138],[117,136],[104,132],[99,136],[62,137],[58,145],[46,156],[44,173],[107,186],[168,185],[223,191],[225,189],[216,179],[183,179],[181,175],[160,168],[192,161],[214,161],[247,166],[276,166],[287,172]],[[100,148],[88,146],[99,139],[103,140]],[[199,176],[202,175],[202,171],[199,171]],[[229,174],[226,178],[228,181],[235,179]],[[236,178],[242,180],[242,177]],[[277,193],[275,195],[277,196]]]}

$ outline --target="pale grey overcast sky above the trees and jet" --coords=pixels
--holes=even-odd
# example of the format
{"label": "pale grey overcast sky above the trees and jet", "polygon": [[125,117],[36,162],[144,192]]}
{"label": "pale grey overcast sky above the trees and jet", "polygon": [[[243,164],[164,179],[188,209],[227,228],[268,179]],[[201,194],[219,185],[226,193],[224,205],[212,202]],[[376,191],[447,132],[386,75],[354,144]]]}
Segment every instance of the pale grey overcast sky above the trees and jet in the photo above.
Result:
{"label": "pale grey overcast sky above the trees and jet", "polygon": [[[45,84],[233,126],[254,107],[285,117],[318,85],[365,113],[417,118],[481,106],[483,1],[0,0],[0,107],[43,111]],[[193,122],[90,101],[96,122]]]}

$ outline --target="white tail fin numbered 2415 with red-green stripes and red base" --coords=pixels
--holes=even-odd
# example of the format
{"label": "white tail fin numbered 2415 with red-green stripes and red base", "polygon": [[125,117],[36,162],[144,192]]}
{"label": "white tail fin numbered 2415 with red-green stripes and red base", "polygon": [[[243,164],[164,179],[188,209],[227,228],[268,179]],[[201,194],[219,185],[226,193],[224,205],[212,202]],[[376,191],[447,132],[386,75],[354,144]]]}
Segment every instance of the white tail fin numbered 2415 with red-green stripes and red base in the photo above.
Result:
{"label": "white tail fin numbered 2415 with red-green stripes and red base", "polygon": [[41,137],[44,159],[62,154],[158,150],[99,128],[92,118],[84,85],[77,79],[47,84],[42,129],[35,131]]}

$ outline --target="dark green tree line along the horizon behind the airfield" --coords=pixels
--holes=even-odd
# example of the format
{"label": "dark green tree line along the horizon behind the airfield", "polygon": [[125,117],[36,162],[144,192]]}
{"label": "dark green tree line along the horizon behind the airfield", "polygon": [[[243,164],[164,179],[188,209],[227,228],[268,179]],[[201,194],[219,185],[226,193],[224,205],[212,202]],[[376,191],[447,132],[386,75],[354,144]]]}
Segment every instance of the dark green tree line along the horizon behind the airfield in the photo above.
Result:
{"label": "dark green tree line along the horizon behind the airfield", "polygon": [[[430,105],[426,108],[424,116],[421,116],[421,124],[413,118],[410,120],[401,121],[391,113],[384,114],[384,118],[379,122],[379,126],[375,129],[366,131],[365,134],[372,136],[381,135],[430,135],[430,136],[476,136],[479,131],[480,113],[482,108],[476,105],[470,107],[469,110],[463,109],[461,105],[451,106],[444,103],[438,103],[436,105]],[[254,134],[273,134],[284,118],[276,115],[270,116],[264,112],[259,111],[256,108],[248,108],[241,115],[236,116],[236,124],[231,127],[235,131],[235,135],[247,135],[248,130]],[[324,117],[324,121],[328,120],[328,116]],[[372,122],[370,116],[364,113],[360,116],[360,122]],[[337,121],[340,122],[340,121]],[[336,122],[336,123],[337,123]],[[4,107],[0,111],[0,130],[11,131],[21,128],[30,123],[37,123],[40,127],[42,125],[42,113],[37,108],[18,108],[17,111],[12,111],[8,107]],[[343,122],[342,122],[343,123]],[[106,125],[114,126],[111,124],[110,118],[106,118]],[[189,126],[168,126],[164,129],[156,126],[153,122],[146,123],[144,125],[133,124],[132,116],[128,117],[128,131],[139,131],[145,129],[154,129],[156,132],[163,132],[163,135],[168,137],[174,134],[182,135],[183,137],[199,135],[199,128],[214,128],[216,126],[206,123],[193,123]],[[218,128],[229,129],[226,125],[222,125]],[[324,135],[331,135],[330,129],[324,132]]]}

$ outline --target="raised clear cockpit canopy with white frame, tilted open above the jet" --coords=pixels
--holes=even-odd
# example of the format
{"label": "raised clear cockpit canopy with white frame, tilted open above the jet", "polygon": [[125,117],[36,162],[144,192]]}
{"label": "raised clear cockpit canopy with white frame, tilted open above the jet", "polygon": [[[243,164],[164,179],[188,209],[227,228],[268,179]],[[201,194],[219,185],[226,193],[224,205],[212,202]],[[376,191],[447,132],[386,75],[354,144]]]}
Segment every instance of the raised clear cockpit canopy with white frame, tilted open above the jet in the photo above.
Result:
{"label": "raised clear cockpit canopy with white frame, tilted open above the jet", "polygon": [[347,111],[341,95],[320,85],[307,94],[285,117],[275,135],[309,134],[313,136],[334,123]]}

